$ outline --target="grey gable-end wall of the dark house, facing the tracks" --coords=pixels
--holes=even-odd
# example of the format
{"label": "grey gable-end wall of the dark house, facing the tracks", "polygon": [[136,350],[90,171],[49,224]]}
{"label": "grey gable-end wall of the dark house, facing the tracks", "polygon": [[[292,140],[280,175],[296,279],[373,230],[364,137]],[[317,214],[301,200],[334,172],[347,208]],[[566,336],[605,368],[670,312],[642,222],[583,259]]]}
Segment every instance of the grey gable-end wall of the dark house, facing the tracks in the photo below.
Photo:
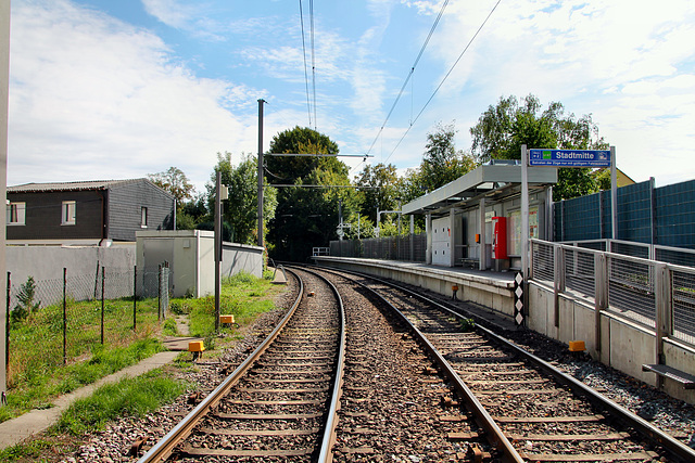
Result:
{"label": "grey gable-end wall of the dark house, facing the tracks", "polygon": [[[141,208],[148,208],[148,224],[141,224]],[[135,241],[136,231],[174,230],[174,196],[148,180],[109,189],[108,229],[114,241]]]}

